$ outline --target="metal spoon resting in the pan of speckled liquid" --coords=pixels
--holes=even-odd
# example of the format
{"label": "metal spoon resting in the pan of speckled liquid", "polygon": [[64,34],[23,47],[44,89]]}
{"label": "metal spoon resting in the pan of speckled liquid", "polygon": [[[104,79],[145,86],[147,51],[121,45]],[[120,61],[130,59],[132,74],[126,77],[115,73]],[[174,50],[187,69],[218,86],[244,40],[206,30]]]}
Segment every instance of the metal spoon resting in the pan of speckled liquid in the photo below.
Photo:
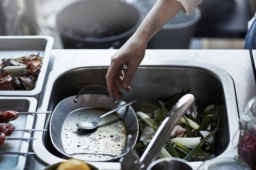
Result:
{"label": "metal spoon resting in the pan of speckled liquid", "polygon": [[113,113],[113,112],[115,112],[115,111],[117,111],[117,110],[119,110],[119,109],[122,109],[122,108],[124,108],[124,107],[126,107],[126,106],[129,106],[130,104],[132,104],[132,103],[134,103],[134,102],[137,102],[137,101],[138,101],[138,99],[135,98],[135,99],[133,99],[133,100],[131,100],[131,101],[129,101],[129,102],[126,102],[125,104],[123,104],[123,105],[121,105],[121,106],[118,106],[117,108],[115,108],[115,109],[113,109],[113,110],[111,110],[111,111],[109,111],[109,112],[107,112],[107,113],[101,115],[101,117],[99,117],[99,118],[96,119],[96,120],[92,120],[92,121],[83,121],[83,122],[80,122],[80,123],[76,124],[76,126],[79,127],[79,128],[81,128],[81,129],[86,129],[86,130],[95,129],[96,127],[98,127],[101,118],[103,118],[103,117],[109,115],[110,113]]}

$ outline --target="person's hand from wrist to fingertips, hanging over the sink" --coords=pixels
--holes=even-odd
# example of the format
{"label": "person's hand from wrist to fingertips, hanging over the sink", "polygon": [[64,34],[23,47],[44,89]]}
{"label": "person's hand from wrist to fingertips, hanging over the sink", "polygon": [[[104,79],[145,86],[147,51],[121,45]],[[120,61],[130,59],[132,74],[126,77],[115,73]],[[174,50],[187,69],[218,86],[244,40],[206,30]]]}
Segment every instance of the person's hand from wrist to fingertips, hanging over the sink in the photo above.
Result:
{"label": "person's hand from wrist to fingertips, hanging over the sink", "polygon": [[[121,86],[127,92],[131,91],[130,83],[133,75],[145,56],[146,43],[136,37],[131,37],[112,57],[106,75],[110,97],[116,94],[122,99]],[[123,67],[127,66],[126,73]]]}

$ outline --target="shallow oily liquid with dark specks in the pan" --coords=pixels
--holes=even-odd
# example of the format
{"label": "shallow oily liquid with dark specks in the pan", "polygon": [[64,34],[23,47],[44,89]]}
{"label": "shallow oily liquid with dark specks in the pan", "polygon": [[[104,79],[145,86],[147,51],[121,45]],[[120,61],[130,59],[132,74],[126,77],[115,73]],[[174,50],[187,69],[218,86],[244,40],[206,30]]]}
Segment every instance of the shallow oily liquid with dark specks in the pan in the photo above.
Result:
{"label": "shallow oily liquid with dark specks in the pan", "polygon": [[61,140],[64,151],[73,158],[86,161],[103,161],[119,156],[124,148],[126,136],[122,119],[111,113],[100,120],[95,130],[82,130],[76,124],[99,118],[106,110],[83,108],[71,112],[62,126]]}

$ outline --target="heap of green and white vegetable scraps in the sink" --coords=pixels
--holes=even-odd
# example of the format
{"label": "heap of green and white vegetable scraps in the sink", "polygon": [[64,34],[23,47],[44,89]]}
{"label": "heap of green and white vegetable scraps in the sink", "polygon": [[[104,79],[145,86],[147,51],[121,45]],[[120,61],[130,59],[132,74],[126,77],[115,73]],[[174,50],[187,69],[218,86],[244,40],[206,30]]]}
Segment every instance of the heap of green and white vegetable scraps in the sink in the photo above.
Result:
{"label": "heap of green and white vegetable scraps in the sink", "polygon": [[[162,121],[168,116],[173,105],[190,90],[181,91],[167,101],[158,101],[158,105],[142,102],[134,107],[139,119],[139,141],[134,150],[141,155]],[[164,157],[182,158],[187,161],[201,161],[214,156],[215,133],[219,118],[216,105],[209,105],[202,112],[197,106],[191,108],[192,113],[180,119],[179,125],[172,130],[168,141],[162,147],[158,159]]]}

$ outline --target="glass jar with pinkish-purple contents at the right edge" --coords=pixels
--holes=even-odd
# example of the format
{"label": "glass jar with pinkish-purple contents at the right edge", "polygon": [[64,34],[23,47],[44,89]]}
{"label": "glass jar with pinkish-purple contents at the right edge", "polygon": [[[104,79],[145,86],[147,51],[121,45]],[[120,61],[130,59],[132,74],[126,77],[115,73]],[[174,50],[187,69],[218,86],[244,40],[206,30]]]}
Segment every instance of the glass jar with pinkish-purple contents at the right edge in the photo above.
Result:
{"label": "glass jar with pinkish-purple contents at the right edge", "polygon": [[256,170],[256,96],[249,100],[240,117],[239,158]]}

